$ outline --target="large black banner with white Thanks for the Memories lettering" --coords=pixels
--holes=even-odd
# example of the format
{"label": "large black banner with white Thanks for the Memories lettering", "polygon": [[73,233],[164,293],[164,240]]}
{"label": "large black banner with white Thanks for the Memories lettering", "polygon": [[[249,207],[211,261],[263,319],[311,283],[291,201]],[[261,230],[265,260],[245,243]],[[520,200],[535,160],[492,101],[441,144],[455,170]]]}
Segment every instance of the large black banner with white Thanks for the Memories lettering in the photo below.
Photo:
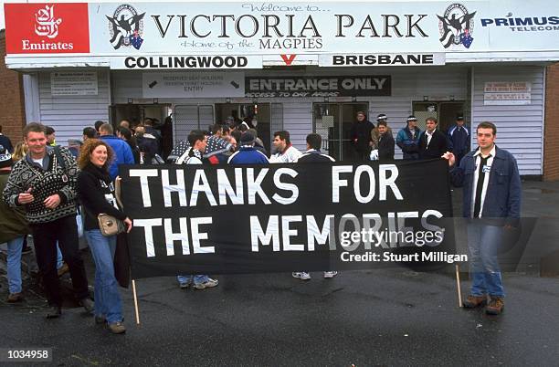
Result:
{"label": "large black banner with white Thanks for the Memories lettering", "polygon": [[121,166],[121,178],[132,278],[465,260],[444,160]]}

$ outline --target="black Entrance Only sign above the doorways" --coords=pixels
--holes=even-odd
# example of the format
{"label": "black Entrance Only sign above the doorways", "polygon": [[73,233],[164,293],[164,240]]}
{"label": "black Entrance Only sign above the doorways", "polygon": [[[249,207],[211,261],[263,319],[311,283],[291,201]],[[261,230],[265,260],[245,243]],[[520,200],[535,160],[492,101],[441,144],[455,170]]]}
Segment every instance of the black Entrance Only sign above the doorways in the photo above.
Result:
{"label": "black Entrance Only sign above the doorways", "polygon": [[355,77],[247,77],[247,98],[390,96],[389,75]]}

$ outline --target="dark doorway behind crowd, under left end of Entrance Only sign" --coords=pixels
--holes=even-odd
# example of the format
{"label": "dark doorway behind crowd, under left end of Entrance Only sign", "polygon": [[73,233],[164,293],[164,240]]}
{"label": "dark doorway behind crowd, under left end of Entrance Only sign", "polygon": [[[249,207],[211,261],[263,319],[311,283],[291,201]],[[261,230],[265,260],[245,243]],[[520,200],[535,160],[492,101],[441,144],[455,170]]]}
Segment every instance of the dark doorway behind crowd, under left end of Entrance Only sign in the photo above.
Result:
{"label": "dark doorway behind crowd, under left end of Entrance Only sign", "polygon": [[[271,133],[271,105],[270,103],[216,103],[216,121],[223,123],[232,116],[237,121],[249,119],[254,125],[258,138],[264,142],[267,152],[270,152]],[[250,124],[248,124],[250,126]]]}

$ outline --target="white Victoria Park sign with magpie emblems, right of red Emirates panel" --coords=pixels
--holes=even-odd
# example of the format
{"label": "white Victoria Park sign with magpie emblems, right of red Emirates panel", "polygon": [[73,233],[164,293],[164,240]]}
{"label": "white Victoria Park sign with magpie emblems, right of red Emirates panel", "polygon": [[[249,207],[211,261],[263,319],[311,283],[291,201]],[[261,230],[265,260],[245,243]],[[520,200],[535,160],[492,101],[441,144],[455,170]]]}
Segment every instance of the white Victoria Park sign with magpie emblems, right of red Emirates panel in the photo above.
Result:
{"label": "white Victoria Park sign with magpie emblems, right of red Emirates panel", "polygon": [[90,37],[90,52],[294,56],[371,49],[388,54],[489,49],[488,28],[476,25],[480,13],[488,14],[489,3],[464,4],[90,4],[90,35],[95,35]]}

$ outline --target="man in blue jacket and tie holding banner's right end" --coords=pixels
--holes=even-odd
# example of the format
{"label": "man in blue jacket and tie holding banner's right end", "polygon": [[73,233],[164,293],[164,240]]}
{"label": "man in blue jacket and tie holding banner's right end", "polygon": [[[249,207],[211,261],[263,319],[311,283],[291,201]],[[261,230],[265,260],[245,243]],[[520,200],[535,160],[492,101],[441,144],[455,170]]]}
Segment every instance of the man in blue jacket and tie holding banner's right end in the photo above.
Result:
{"label": "man in blue jacket and tie holding banner's right end", "polygon": [[452,184],[464,186],[463,216],[469,219],[468,247],[472,285],[464,307],[484,306],[488,314],[498,315],[504,307],[504,288],[498,253],[504,231],[518,225],[522,185],[516,160],[510,152],[495,145],[497,128],[481,122],[476,136],[479,148],[456,157],[446,152]]}

